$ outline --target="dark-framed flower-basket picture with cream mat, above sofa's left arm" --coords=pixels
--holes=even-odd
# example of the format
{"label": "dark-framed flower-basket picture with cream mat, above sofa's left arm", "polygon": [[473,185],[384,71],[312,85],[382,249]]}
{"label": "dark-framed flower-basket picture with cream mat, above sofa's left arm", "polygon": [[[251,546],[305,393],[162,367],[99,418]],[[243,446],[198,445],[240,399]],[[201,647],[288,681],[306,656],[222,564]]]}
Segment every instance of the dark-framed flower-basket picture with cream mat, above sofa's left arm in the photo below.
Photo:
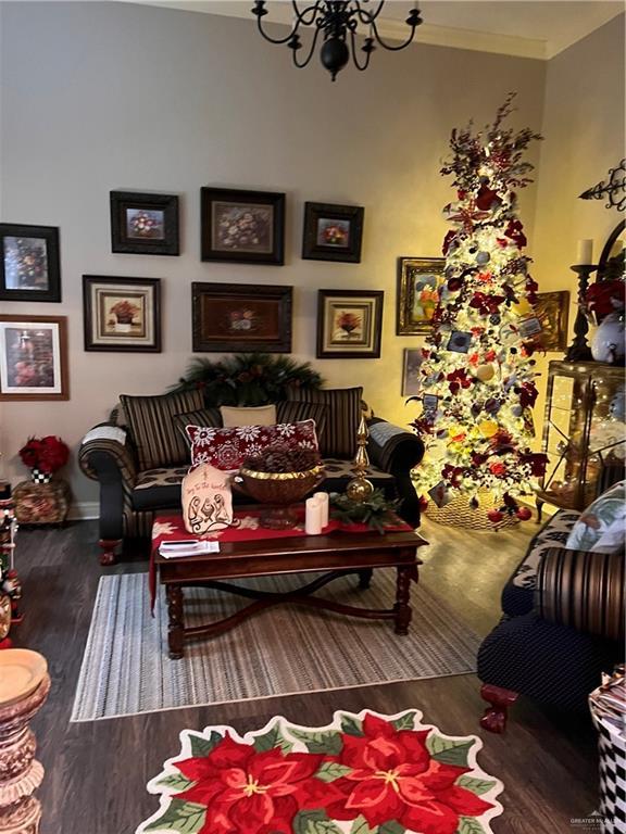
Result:
{"label": "dark-framed flower-basket picture with cream mat, above sofa's left arm", "polygon": [[159,353],[161,279],[83,276],[86,351]]}

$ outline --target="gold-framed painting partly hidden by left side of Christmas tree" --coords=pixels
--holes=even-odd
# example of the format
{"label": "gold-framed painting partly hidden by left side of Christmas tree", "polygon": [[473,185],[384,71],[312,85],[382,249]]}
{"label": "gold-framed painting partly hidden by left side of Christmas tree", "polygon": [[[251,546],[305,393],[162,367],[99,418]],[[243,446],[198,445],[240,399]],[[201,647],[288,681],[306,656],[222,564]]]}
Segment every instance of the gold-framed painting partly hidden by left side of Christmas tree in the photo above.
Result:
{"label": "gold-framed painting partly hidden by left side of Christmas tree", "polygon": [[443,257],[398,258],[398,336],[428,332],[439,303],[439,291],[446,280],[445,268]]}

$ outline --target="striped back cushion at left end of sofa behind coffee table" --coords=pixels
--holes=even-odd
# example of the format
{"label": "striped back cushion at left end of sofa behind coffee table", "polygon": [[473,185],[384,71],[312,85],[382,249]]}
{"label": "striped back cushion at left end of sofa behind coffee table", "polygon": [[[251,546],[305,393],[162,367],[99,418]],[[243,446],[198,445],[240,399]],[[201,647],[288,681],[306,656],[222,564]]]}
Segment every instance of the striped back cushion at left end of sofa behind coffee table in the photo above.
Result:
{"label": "striped back cushion at left end of sofa behind coffee table", "polygon": [[187,458],[185,441],[176,430],[174,416],[202,408],[201,391],[180,391],[161,396],[122,394],[120,401],[135,441],[140,470],[173,466]]}

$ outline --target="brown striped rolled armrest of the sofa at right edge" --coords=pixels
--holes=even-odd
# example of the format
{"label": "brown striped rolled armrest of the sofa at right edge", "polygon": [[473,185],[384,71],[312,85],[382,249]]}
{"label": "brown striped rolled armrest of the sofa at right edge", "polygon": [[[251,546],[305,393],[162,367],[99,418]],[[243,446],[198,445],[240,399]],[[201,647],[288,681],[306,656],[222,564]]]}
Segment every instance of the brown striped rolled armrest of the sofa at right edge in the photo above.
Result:
{"label": "brown striped rolled armrest of the sofa at right edge", "polygon": [[537,572],[540,617],[577,631],[624,640],[624,552],[549,547]]}

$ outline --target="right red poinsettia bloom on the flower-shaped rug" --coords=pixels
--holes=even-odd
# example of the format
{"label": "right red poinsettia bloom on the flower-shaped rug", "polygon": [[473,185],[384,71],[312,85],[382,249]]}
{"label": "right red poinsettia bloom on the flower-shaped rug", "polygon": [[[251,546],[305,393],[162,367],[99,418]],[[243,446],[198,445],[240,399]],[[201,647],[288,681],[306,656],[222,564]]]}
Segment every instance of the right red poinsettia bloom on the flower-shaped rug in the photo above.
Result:
{"label": "right red poinsettia bloom on the flower-shaped rug", "polygon": [[363,736],[343,735],[337,761],[352,769],[333,782],[341,792],[327,801],[330,819],[353,820],[361,813],[371,827],[396,820],[421,834],[454,834],[460,817],[478,817],[491,803],[454,784],[470,768],[431,758],[425,741],[429,730],[396,730],[367,715]]}

